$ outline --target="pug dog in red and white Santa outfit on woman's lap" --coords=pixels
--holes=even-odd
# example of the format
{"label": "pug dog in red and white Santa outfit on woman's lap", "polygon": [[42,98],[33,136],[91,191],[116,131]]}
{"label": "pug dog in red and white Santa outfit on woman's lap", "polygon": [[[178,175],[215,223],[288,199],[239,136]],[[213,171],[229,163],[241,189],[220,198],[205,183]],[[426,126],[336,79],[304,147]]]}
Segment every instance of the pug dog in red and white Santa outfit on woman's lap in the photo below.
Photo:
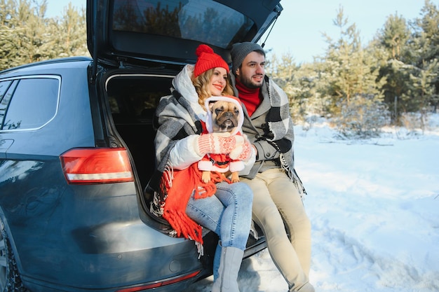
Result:
{"label": "pug dog in red and white Santa outfit on woman's lap", "polygon": [[[222,132],[231,135],[240,134],[243,125],[243,109],[237,97],[222,96],[210,97],[205,102],[208,115],[206,118],[206,130],[209,133]],[[228,153],[208,154],[198,162],[198,169],[202,171],[201,180],[204,183],[210,181],[210,172],[220,172],[226,176],[231,174],[231,182],[239,181],[239,171],[244,168],[243,162],[231,160]]]}

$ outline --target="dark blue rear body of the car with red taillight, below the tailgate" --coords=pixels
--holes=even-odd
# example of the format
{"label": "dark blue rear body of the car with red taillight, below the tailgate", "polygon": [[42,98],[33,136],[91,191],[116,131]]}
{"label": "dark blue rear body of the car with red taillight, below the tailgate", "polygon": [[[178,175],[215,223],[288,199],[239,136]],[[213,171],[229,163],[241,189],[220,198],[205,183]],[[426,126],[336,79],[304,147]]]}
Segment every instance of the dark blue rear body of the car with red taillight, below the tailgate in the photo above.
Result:
{"label": "dark blue rear body of the car with red taillight, below the tailgate", "polygon": [[[168,227],[144,211],[135,160],[112,123],[107,93],[88,84],[91,62],[1,74],[4,104],[12,98],[0,134],[0,216],[22,281],[30,291],[117,291],[194,280],[203,274],[194,244],[166,235]],[[13,101],[25,97],[15,111]],[[53,111],[47,123],[36,118],[45,107]],[[139,164],[152,169],[153,159],[150,152]]]}

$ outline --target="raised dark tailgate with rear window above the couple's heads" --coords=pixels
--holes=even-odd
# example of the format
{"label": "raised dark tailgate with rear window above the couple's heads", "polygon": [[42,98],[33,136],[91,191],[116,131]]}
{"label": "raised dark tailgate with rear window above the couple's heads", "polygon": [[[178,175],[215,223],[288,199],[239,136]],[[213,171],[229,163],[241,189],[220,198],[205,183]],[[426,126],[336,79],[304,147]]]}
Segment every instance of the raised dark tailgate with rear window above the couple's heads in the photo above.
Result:
{"label": "raised dark tailgate with rear window above the couple's heads", "polygon": [[87,0],[88,50],[116,64],[187,64],[205,43],[230,63],[231,45],[257,42],[280,15],[280,1]]}

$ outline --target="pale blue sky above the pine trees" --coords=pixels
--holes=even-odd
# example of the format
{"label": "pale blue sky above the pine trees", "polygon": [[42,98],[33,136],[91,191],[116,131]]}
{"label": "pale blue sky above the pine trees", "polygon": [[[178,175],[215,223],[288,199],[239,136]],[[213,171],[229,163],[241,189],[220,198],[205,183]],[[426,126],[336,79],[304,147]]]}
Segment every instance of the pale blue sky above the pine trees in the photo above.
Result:
{"label": "pale blue sky above the pine trees", "polygon": [[[439,6],[439,0],[431,0]],[[46,16],[62,15],[72,2],[86,7],[86,0],[48,0]],[[389,15],[397,13],[406,20],[419,17],[424,0],[281,0],[283,11],[273,27],[264,48],[276,55],[290,53],[297,63],[312,62],[314,56],[323,55],[327,43],[323,32],[338,39],[339,29],[333,25],[340,6],[348,18],[348,25],[356,24],[360,38],[370,41]],[[265,36],[262,38],[262,41]],[[262,43],[261,41],[261,43]]]}

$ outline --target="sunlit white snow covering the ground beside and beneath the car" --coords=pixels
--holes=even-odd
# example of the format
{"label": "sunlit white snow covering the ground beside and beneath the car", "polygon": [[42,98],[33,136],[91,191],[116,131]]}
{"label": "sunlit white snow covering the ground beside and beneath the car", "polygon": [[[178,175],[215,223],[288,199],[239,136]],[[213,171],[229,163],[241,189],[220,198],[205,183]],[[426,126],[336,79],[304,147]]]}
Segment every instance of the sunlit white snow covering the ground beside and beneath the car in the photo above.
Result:
{"label": "sunlit white snow covering the ground beside and beneath the car", "polygon": [[[295,127],[316,291],[439,291],[439,115],[424,131],[384,130],[339,140],[326,123]],[[267,250],[243,261],[238,282],[241,292],[288,290]]]}

